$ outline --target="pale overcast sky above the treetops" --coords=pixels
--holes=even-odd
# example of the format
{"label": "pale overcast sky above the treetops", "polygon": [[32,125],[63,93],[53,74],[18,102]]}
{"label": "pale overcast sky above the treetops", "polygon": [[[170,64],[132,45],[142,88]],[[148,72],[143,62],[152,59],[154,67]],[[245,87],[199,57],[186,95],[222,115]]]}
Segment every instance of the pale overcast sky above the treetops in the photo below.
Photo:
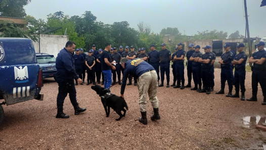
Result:
{"label": "pale overcast sky above the treetops", "polygon": [[[260,7],[260,3],[261,0],[247,0],[251,37],[266,36],[266,6]],[[31,0],[25,10],[36,19],[46,20],[48,14],[58,11],[70,17],[91,11],[97,21],[105,24],[127,21],[136,30],[143,21],[155,33],[177,27],[186,35],[216,29],[228,35],[239,30],[245,36],[243,0]]]}

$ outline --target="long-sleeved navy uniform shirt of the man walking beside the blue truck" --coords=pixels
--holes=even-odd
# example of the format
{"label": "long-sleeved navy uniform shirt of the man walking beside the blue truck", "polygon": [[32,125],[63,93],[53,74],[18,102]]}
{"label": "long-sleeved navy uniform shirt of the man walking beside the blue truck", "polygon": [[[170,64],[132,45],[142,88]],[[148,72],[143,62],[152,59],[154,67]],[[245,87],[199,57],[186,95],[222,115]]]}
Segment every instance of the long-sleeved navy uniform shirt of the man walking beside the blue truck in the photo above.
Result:
{"label": "long-sleeved navy uniform shirt of the man walking beside the blue truck", "polygon": [[78,75],[75,71],[74,57],[67,51],[66,48],[61,49],[57,55],[56,69],[56,78],[58,83],[78,79]]}

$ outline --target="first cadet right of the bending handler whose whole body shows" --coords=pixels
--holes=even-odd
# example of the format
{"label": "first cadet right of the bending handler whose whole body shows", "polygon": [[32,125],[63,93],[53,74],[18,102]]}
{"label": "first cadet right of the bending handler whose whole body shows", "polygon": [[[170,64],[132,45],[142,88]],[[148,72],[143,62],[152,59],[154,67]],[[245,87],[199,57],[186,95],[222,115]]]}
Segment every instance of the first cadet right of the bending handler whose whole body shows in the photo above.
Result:
{"label": "first cadet right of the bending handler whose whole body shows", "polygon": [[166,44],[161,44],[161,51],[159,52],[160,57],[160,72],[161,72],[161,84],[159,87],[163,86],[164,72],[166,74],[166,87],[169,87],[170,81],[170,61],[172,60],[171,52],[166,48]]}

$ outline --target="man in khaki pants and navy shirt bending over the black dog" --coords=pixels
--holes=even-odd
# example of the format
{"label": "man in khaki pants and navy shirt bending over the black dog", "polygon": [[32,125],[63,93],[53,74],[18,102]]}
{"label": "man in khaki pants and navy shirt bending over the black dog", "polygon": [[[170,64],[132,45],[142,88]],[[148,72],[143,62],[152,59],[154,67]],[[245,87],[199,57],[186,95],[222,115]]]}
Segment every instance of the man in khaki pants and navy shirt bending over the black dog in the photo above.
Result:
{"label": "man in khaki pants and navy shirt bending over the black dog", "polygon": [[127,76],[129,74],[133,74],[138,78],[139,104],[142,116],[139,118],[139,121],[143,124],[147,124],[147,93],[149,94],[149,99],[151,101],[154,112],[153,116],[151,116],[151,120],[160,120],[158,109],[159,102],[157,99],[158,76],[155,69],[150,64],[140,58],[133,60],[127,60],[126,58],[122,58],[120,60],[120,64],[124,68],[120,96],[124,98],[124,90]]}

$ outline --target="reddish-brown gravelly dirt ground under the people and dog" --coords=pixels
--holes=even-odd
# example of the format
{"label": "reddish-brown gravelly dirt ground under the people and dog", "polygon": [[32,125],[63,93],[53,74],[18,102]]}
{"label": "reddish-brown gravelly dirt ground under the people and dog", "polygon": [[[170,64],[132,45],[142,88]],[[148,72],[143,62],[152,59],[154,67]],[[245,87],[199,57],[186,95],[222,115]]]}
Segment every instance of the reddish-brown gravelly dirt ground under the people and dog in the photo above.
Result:
{"label": "reddish-brown gravelly dirt ground under the people and dog", "polygon": [[[209,95],[190,88],[159,87],[161,120],[151,121],[152,107],[148,102],[148,125],[138,121],[141,114],[138,88],[134,85],[126,86],[124,96],[129,110],[120,121],[115,121],[118,115],[114,111],[106,118],[100,97],[91,85],[76,86],[79,106],[87,111],[75,116],[67,97],[64,112],[70,118],[56,119],[58,85],[52,78],[45,79],[43,102],[32,100],[3,106],[0,149],[263,149],[266,133],[248,124],[250,120],[265,122],[261,88],[257,102],[217,95],[219,74],[220,70],[215,69],[215,87]],[[245,85],[249,98],[251,72],[246,73]],[[111,92],[119,95],[120,85],[111,87]]]}

